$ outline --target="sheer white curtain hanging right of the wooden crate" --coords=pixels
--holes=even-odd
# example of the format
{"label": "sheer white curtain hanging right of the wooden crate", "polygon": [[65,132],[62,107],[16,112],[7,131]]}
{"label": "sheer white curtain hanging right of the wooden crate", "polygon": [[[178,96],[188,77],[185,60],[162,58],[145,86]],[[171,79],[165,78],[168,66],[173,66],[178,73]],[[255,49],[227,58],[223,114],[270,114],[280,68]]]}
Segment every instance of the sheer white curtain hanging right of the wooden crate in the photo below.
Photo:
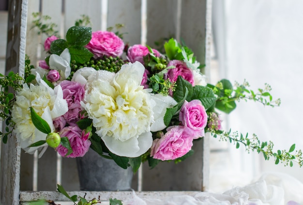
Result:
{"label": "sheer white curtain hanging right of the wooden crate", "polygon": [[[218,6],[219,5],[219,6]],[[242,133],[272,140],[274,148],[303,149],[303,1],[302,0],[213,0],[213,32],[221,77],[252,90],[272,87],[280,107],[240,102],[227,126]],[[224,12],[218,12],[224,8]],[[218,26],[219,25],[219,26]],[[225,33],[222,35],[222,33]],[[303,168],[274,165],[262,155],[247,155],[230,148],[235,168],[257,177],[267,171],[289,173],[303,182]]]}

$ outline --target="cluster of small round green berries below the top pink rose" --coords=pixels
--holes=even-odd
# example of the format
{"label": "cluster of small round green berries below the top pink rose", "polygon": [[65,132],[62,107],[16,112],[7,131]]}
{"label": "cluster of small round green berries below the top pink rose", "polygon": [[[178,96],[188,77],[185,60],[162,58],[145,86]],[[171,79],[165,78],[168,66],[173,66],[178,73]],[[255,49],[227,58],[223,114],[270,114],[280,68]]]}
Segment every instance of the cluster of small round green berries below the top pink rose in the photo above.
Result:
{"label": "cluster of small round green berries below the top pink rose", "polygon": [[96,70],[106,70],[117,73],[125,62],[120,57],[103,56],[101,59],[91,58],[86,63],[77,63],[75,60],[71,62],[71,75],[68,80],[72,79],[74,73],[83,67],[92,67]]}

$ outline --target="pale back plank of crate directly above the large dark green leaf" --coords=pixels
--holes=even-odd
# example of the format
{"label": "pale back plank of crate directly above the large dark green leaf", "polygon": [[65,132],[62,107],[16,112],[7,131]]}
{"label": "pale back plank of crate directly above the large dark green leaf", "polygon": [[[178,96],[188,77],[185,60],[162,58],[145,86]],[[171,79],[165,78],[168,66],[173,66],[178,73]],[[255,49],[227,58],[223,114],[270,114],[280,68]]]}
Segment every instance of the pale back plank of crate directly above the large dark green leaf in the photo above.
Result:
{"label": "pale back plank of crate directly above the large dark green leaf", "polygon": [[102,0],[65,0],[65,32],[75,25],[81,15],[91,18],[92,31],[102,28]]}

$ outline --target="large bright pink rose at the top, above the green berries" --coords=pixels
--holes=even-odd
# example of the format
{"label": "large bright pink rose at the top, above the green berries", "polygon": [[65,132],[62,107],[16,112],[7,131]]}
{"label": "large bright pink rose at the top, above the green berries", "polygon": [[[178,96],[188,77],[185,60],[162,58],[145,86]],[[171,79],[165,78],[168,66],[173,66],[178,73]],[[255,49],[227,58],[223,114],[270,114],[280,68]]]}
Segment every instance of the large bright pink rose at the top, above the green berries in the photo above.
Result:
{"label": "large bright pink rose at the top, above the green berries", "polygon": [[97,31],[92,32],[91,41],[86,48],[94,54],[94,58],[101,58],[103,55],[118,57],[123,53],[124,43],[113,32]]}

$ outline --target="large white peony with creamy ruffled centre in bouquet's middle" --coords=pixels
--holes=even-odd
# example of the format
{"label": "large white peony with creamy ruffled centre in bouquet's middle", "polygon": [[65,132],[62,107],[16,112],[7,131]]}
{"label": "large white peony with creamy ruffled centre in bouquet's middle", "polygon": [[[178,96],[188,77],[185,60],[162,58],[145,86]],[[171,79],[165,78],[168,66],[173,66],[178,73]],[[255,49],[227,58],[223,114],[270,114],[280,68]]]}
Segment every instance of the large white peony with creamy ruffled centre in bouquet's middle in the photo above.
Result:
{"label": "large white peony with creamy ruffled centre in bouquet's middle", "polygon": [[[138,157],[152,146],[157,96],[141,86],[144,70],[141,63],[135,62],[122,65],[116,74],[95,71],[85,78],[82,106],[106,147],[119,156]],[[164,114],[157,112],[157,120],[163,121]],[[154,126],[154,130],[161,129]]]}

